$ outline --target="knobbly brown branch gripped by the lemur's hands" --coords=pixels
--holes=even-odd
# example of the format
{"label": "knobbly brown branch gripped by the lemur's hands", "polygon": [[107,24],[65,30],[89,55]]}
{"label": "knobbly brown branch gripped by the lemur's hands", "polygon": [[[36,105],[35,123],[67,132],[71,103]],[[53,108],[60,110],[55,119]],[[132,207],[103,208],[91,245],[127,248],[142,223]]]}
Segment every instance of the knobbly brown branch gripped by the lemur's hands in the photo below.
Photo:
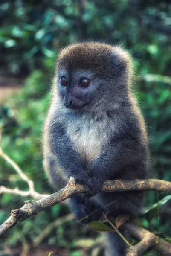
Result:
{"label": "knobbly brown branch gripped by the lemur's hands", "polygon": [[[123,192],[132,190],[154,190],[159,192],[171,193],[171,182],[163,180],[113,180],[106,181],[101,189],[104,192]],[[31,215],[36,215],[38,212],[43,211],[48,207],[52,207],[73,195],[85,193],[87,190],[83,185],[75,184],[73,177],[70,178],[69,183],[64,189],[49,195],[46,198],[42,198],[38,201],[25,201],[25,205],[16,210],[12,210],[11,217],[9,217],[0,226],[0,237],[2,237],[10,228],[15,224],[19,224]]]}

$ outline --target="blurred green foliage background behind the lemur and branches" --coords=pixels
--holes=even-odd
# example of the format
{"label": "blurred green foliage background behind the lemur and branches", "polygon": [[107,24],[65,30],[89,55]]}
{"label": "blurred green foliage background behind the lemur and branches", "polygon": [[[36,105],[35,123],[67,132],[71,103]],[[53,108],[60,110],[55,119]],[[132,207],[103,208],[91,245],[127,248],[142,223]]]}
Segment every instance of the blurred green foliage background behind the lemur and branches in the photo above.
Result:
{"label": "blurred green foliage background behind the lemur and branches", "polygon": [[[0,1],[0,129],[1,146],[35,182],[40,193],[52,193],[42,166],[43,122],[55,55],[75,40],[122,44],[136,59],[134,91],[145,116],[154,176],[171,181],[171,3],[167,0],[1,0]],[[10,80],[10,78],[12,78]],[[23,86],[21,86],[24,84]],[[4,89],[20,87],[8,98]],[[6,90],[5,90],[6,91]],[[27,190],[9,164],[0,158],[0,185]],[[159,200],[166,195],[159,195]],[[11,209],[22,207],[19,196],[0,195],[0,223]],[[156,207],[142,224],[171,241],[169,200],[158,223]],[[148,192],[148,210],[157,193]],[[163,210],[165,209],[165,210]],[[3,237],[0,255],[100,256],[102,242],[96,232],[69,221],[55,227],[33,249],[45,227],[69,213],[56,205],[13,227]],[[170,211],[171,213],[171,211]],[[31,251],[27,253],[28,249]],[[55,254],[57,255],[57,254]],[[148,256],[158,255],[147,253]]]}

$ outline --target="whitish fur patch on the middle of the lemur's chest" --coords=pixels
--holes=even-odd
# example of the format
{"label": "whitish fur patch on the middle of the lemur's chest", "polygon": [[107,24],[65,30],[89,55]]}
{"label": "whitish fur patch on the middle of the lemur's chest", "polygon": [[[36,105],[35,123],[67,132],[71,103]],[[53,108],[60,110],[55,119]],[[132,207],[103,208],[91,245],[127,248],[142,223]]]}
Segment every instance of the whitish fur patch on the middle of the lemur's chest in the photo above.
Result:
{"label": "whitish fur patch on the middle of the lemur's chest", "polygon": [[105,127],[105,122],[97,124],[93,121],[85,121],[73,122],[67,128],[67,135],[72,140],[75,151],[81,155],[84,163],[88,164],[98,157],[104,144],[107,143]]}

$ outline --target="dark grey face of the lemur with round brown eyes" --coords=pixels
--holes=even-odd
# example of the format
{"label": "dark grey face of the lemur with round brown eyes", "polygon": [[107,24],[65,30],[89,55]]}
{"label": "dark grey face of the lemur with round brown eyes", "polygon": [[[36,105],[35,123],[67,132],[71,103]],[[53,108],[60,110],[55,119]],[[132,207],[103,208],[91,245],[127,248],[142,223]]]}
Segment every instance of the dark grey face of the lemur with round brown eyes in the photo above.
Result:
{"label": "dark grey face of the lemur with round brown eyes", "polygon": [[61,70],[58,76],[58,88],[64,106],[70,109],[80,109],[88,107],[96,98],[98,89],[101,87],[102,80],[88,70],[77,70],[68,73]]}

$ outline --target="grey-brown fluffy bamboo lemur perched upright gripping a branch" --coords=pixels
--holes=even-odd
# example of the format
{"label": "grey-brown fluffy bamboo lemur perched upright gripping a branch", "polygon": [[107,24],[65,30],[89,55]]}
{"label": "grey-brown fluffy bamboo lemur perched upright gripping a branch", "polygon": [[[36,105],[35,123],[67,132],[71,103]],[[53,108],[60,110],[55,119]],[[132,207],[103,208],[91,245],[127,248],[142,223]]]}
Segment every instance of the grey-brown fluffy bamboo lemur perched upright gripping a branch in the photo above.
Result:
{"label": "grey-brown fluffy bamboo lemur perched upright gripping a branch", "polygon": [[[104,180],[148,177],[148,141],[144,119],[131,92],[132,61],[121,47],[100,43],[73,44],[59,54],[52,87],[52,103],[45,123],[44,166],[55,189],[73,176],[87,187],[85,195],[70,199],[81,219],[136,215],[139,192],[100,192]],[[84,198],[84,199],[85,199]],[[107,234],[110,256],[125,255],[124,242]]]}

